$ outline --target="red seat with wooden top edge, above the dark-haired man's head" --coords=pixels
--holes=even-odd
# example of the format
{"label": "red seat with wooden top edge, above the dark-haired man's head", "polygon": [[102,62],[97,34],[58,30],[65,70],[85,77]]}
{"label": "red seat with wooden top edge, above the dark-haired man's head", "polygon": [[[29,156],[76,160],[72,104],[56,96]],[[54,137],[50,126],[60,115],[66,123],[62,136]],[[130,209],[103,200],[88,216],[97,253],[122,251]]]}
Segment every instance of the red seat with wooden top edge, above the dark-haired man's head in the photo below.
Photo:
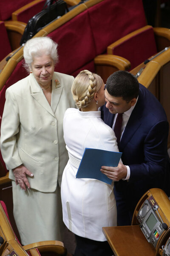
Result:
{"label": "red seat with wooden top edge, above the dark-haired man's head", "polygon": [[144,26],[108,47],[108,54],[119,55],[129,60],[131,69],[137,67],[156,52],[156,41],[152,26]]}

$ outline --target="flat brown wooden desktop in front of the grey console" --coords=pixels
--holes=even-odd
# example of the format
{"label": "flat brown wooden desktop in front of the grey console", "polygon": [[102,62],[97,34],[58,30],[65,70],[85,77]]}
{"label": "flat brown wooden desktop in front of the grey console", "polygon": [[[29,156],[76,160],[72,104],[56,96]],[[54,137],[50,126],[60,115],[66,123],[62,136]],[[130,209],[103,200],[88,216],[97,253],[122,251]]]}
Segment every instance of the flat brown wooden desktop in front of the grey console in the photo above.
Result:
{"label": "flat brown wooden desktop in front of the grey console", "polygon": [[154,256],[156,253],[139,226],[103,227],[102,230],[115,256]]}

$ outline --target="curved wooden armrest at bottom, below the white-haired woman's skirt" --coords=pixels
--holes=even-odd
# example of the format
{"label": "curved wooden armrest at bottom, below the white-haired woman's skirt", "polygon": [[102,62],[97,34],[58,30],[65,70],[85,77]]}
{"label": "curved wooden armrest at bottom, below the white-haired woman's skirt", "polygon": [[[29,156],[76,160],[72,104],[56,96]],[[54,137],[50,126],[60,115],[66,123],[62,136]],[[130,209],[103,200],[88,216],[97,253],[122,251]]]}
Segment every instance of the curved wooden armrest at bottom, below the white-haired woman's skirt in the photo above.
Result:
{"label": "curved wooden armrest at bottom, below the white-haired woman's skirt", "polygon": [[54,252],[58,253],[59,255],[64,255],[66,251],[64,248],[64,244],[61,241],[40,241],[23,246],[23,249],[26,251],[29,250],[30,253],[35,253],[34,249],[36,248],[40,251],[40,253]]}

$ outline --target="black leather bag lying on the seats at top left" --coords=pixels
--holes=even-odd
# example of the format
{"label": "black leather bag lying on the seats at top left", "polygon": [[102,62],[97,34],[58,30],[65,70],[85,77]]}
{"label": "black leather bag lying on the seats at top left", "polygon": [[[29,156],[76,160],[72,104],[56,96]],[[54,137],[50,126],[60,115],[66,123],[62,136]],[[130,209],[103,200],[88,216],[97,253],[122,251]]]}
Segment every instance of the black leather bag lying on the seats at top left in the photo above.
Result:
{"label": "black leather bag lying on the seats at top left", "polygon": [[[31,39],[40,29],[49,24],[51,21],[56,20],[68,12],[67,3],[63,0],[47,0],[41,12],[37,13],[28,20],[20,45],[25,44],[28,39]],[[47,7],[46,7],[47,6]],[[45,8],[46,7],[46,8]]]}

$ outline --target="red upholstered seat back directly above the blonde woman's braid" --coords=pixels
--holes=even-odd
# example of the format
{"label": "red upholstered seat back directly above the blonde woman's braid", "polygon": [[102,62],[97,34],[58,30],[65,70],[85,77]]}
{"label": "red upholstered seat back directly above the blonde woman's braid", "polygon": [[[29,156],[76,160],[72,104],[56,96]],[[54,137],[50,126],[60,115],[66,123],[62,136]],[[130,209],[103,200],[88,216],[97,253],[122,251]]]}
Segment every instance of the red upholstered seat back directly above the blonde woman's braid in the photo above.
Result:
{"label": "red upholstered seat back directly above the blonde woman's braid", "polygon": [[[94,38],[89,26],[88,10],[66,22],[48,36],[58,43],[59,63],[56,71],[77,74],[82,67],[94,71]],[[91,63],[91,61],[93,61]]]}

